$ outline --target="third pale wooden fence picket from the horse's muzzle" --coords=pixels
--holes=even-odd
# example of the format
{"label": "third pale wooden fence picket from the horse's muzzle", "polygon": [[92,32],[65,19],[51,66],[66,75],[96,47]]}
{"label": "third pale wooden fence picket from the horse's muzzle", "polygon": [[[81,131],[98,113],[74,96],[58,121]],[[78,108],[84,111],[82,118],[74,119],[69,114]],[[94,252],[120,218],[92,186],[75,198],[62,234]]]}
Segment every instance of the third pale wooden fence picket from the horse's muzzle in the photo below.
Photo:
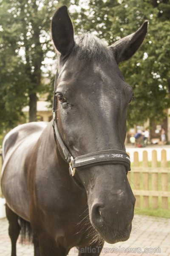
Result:
{"label": "third pale wooden fence picket from the horse's muzzle", "polygon": [[[156,150],[152,151],[152,167],[155,169],[158,167]],[[158,190],[158,172],[152,173],[152,190],[156,190],[156,191]],[[157,196],[152,197],[152,206],[153,206],[153,209],[158,208]]]}

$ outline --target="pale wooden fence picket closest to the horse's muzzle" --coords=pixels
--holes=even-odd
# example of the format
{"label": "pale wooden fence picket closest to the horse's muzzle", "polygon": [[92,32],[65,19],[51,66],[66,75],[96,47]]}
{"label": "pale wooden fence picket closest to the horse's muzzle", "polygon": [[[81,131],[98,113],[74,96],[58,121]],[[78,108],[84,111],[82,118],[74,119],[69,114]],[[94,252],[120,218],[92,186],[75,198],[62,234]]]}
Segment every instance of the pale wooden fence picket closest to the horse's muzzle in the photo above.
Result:
{"label": "pale wooden fence picket closest to the horse's muzzle", "polygon": [[[139,167],[139,154],[138,152],[134,152],[133,154],[134,157],[134,167]],[[140,189],[140,172],[134,172],[133,173],[133,183],[135,185],[135,189],[139,190]],[[136,195],[136,206],[140,207],[140,196]]]}

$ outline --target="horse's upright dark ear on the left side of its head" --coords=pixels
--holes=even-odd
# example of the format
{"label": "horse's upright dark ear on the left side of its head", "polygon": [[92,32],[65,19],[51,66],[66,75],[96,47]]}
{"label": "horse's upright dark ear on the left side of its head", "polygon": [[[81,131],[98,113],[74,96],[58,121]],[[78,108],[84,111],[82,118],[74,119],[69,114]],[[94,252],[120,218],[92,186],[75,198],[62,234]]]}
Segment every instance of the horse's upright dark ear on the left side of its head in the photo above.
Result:
{"label": "horse's upright dark ear on the left side of its head", "polygon": [[74,47],[74,29],[68,15],[67,6],[60,7],[51,22],[51,34],[56,49],[63,55],[68,55]]}

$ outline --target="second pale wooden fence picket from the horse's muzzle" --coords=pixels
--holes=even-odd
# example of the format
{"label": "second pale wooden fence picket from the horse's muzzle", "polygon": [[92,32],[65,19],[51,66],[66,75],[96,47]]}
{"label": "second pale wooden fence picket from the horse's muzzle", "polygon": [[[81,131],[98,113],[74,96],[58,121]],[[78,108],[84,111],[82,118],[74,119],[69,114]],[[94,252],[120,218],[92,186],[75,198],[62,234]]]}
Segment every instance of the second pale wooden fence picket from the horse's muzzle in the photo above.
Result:
{"label": "second pale wooden fence picket from the horse's muzzle", "polygon": [[[147,160],[147,151],[143,151],[143,162],[142,166],[144,168],[148,168],[148,160]],[[143,179],[143,189],[144,190],[149,190],[149,175],[148,172],[143,172],[142,175]],[[143,207],[148,208],[149,207],[149,197],[148,196],[143,196]]]}

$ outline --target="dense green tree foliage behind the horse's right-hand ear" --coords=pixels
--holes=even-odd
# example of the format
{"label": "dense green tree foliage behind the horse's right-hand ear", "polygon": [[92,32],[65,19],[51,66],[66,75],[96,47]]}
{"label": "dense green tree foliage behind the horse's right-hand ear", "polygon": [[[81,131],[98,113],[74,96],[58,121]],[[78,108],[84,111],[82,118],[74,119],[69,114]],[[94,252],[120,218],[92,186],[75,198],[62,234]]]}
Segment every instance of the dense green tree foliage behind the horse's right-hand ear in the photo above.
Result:
{"label": "dense green tree foliage behind the horse's right-hand ear", "polygon": [[[130,29],[133,28],[131,29],[133,32],[134,25],[139,26],[144,20],[149,20],[147,38],[141,51],[137,52],[128,63],[122,63],[120,66],[126,81],[134,90],[135,100],[130,106],[128,116],[131,125],[135,122],[143,123],[147,118],[150,119],[150,125],[152,122],[160,122],[167,115],[164,110],[170,108],[168,91],[170,60],[167,58],[170,51],[167,40],[170,36],[170,19],[167,19],[167,15],[162,11],[164,4],[154,7],[152,1],[138,1],[137,5],[134,0],[123,1],[120,4],[122,11],[119,10],[117,15],[121,13],[125,16],[116,16],[116,20],[119,17],[122,22],[121,32],[125,31],[124,35],[128,34],[126,33],[128,26]],[[168,3],[166,5],[168,7]]]}

